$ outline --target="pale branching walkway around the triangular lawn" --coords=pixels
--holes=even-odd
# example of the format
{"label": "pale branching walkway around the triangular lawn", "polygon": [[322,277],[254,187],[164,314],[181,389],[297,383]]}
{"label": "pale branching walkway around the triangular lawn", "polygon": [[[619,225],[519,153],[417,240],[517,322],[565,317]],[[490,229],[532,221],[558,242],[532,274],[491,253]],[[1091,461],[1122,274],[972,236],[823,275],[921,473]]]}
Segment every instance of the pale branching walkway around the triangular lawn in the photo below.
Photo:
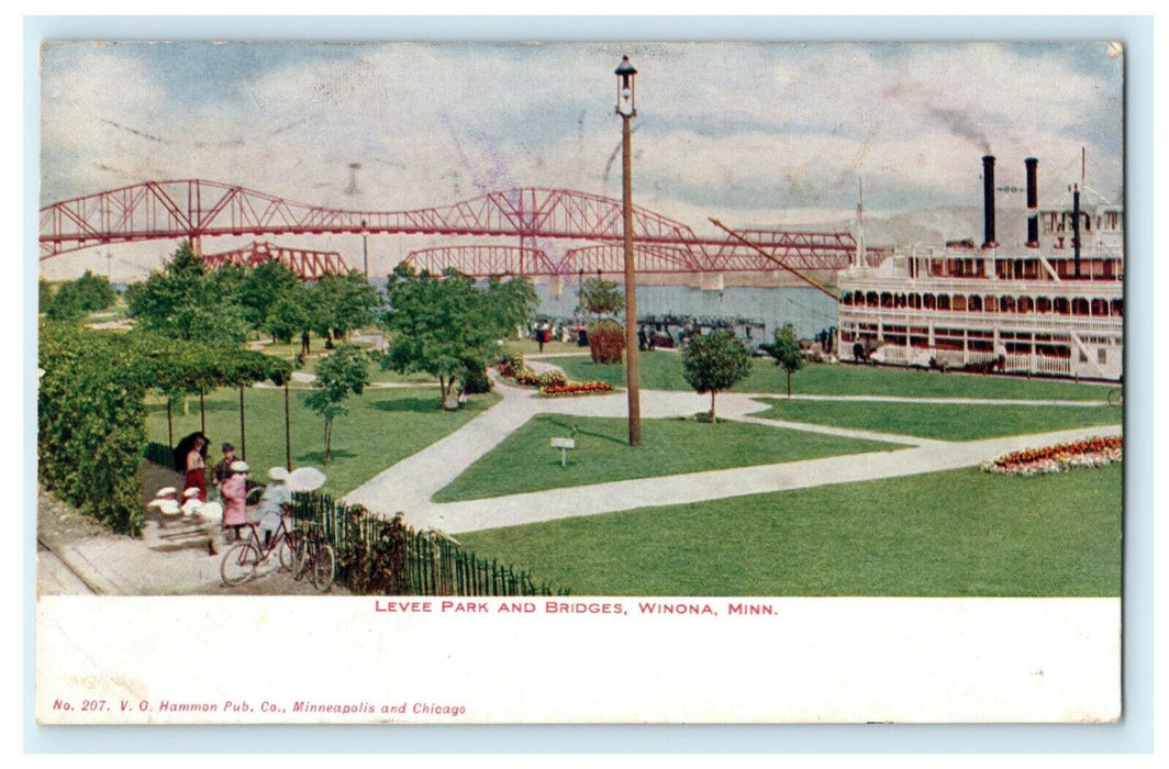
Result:
{"label": "pale branching walkway around the triangular lawn", "polygon": [[[535,370],[553,366],[528,361]],[[865,438],[901,444],[898,450],[824,457],[780,464],[713,470],[657,478],[572,486],[548,491],[456,503],[434,503],[430,497],[450,484],[483,455],[537,414],[567,416],[625,416],[624,393],[580,399],[541,399],[534,390],[509,386],[493,377],[503,400],[427,449],[407,457],[345,496],[383,515],[404,514],[417,528],[459,533],[516,526],[577,515],[596,515],[637,507],[673,505],[741,497],[786,489],[873,480],[898,476],[956,470],[977,465],[1010,451],[1077,441],[1090,436],[1119,435],[1121,425],[1061,430],[1043,435],[1009,436],[964,443],[934,441],[905,435],[783,422],[752,416],[769,404],[758,399],[776,394],[719,395],[719,417],[808,432]],[[798,397],[798,396],[797,396]],[[897,399],[885,396],[802,396],[808,400],[907,401],[931,403],[1024,403],[1029,406],[1084,406],[1063,401],[987,401],[977,399]],[[642,390],[642,417],[690,416],[708,410],[705,395],[685,392]],[[1097,403],[1095,406],[1099,406]]]}

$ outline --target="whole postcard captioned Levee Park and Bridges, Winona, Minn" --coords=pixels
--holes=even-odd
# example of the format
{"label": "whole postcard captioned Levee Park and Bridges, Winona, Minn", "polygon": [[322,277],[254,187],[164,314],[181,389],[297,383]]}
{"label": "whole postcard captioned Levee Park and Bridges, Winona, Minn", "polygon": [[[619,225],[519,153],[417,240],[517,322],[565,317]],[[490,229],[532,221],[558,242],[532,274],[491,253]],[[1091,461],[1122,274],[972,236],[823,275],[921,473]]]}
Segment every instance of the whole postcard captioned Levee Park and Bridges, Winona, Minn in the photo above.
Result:
{"label": "whole postcard captioned Levee Park and Bridges, Winona, Minn", "polygon": [[1123,44],[40,60],[39,723],[1121,718]]}

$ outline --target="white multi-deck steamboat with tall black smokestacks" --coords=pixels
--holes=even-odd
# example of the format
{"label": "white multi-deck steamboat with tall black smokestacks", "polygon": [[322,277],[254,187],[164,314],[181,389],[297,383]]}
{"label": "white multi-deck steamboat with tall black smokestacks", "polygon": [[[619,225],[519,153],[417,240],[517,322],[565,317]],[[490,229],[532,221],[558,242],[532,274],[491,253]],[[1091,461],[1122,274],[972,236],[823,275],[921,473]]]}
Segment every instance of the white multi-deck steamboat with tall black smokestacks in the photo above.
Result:
{"label": "white multi-deck steamboat with tall black smokestacks", "polygon": [[[984,242],[894,250],[838,275],[842,360],[1120,380],[1123,373],[1123,207],[1075,186],[1037,205],[1028,158],[1026,242],[995,240],[995,158],[983,162]],[[1070,207],[1068,207],[1070,205]]]}

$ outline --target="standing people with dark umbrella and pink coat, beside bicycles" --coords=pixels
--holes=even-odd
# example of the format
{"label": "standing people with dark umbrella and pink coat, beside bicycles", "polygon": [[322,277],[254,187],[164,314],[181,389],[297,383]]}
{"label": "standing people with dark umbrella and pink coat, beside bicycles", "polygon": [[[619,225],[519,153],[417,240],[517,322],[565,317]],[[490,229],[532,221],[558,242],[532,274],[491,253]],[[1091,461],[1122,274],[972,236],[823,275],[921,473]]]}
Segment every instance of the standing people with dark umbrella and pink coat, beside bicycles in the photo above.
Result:
{"label": "standing people with dark umbrella and pink coat, beside bicycles", "polygon": [[[207,501],[209,445],[210,441],[206,435],[192,432],[174,449],[175,470],[184,473],[184,494],[188,489],[194,489],[201,503]],[[209,482],[219,491],[223,503],[223,529],[231,529],[234,539],[240,539],[240,532],[248,522],[248,473],[251,467],[243,459],[236,459],[235,446],[230,443],[222,445],[222,452],[223,458],[212,467]],[[279,528],[281,518],[292,504],[292,492],[285,484],[289,471],[285,467],[272,467],[269,476],[272,483],[264,487],[256,506],[265,543]],[[215,554],[214,547],[212,554]]]}

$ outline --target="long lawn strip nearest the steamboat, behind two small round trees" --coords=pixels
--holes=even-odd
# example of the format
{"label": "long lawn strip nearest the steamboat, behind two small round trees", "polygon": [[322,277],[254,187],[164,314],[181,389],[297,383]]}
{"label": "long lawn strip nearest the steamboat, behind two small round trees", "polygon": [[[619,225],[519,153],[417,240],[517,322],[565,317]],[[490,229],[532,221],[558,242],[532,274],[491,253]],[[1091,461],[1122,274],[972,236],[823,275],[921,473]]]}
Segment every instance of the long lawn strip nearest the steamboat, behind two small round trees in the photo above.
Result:
{"label": "long lawn strip nearest the steamboat, behind two small round trees", "polygon": [[[682,376],[682,355],[669,352],[638,356],[642,387],[689,390]],[[602,366],[587,355],[553,361],[575,381],[599,380],[625,386],[624,363]],[[770,358],[756,358],[752,373],[735,393],[787,393],[787,373]],[[981,397],[1019,400],[1104,401],[1108,388],[1045,379],[941,374],[901,368],[809,363],[791,376],[791,393],[808,395],[897,395],[906,397]]]}

